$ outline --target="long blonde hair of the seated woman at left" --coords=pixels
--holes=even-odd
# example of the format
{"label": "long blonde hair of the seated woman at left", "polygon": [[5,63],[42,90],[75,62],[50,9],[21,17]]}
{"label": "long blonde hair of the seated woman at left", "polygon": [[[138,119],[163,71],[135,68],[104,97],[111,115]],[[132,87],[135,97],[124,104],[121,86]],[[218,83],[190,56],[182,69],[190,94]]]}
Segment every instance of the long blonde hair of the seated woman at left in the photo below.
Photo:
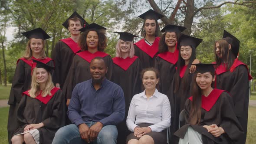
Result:
{"label": "long blonde hair of the seated woman at left", "polygon": [[[30,94],[31,98],[36,98],[36,96],[40,94],[40,88],[39,88],[40,84],[39,84],[38,80],[36,79],[37,69],[38,68],[34,68],[33,72],[32,72],[31,89],[29,91],[29,94]],[[48,76],[48,79],[46,81],[46,87],[42,92],[42,97],[46,97],[46,95],[52,96],[51,90],[54,88],[51,73],[50,72],[47,72],[47,73],[48,73],[49,76]]]}

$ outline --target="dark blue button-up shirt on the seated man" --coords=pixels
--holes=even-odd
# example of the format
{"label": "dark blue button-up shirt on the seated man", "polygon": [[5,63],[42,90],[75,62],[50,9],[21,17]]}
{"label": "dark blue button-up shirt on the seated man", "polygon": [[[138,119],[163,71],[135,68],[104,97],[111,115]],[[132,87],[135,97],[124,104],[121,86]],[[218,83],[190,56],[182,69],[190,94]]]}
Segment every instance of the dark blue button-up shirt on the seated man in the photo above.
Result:
{"label": "dark blue button-up shirt on the seated man", "polygon": [[117,125],[125,118],[125,98],[122,88],[104,79],[97,91],[92,79],[75,85],[67,111],[77,126],[89,121]]}

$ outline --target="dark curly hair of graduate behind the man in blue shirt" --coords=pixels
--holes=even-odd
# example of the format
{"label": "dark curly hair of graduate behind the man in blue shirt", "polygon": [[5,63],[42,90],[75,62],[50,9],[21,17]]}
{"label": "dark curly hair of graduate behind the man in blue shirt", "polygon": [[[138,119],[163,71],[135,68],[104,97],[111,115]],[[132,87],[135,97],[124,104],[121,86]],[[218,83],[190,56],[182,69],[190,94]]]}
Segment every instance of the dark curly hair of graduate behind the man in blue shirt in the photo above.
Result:
{"label": "dark curly hair of graduate behind the man in blue shirt", "polygon": [[82,51],[88,50],[88,46],[86,44],[86,37],[90,31],[95,31],[98,34],[98,51],[104,52],[104,49],[107,47],[107,37],[105,36],[105,30],[104,29],[88,29],[83,32],[78,40],[78,45],[82,49]]}

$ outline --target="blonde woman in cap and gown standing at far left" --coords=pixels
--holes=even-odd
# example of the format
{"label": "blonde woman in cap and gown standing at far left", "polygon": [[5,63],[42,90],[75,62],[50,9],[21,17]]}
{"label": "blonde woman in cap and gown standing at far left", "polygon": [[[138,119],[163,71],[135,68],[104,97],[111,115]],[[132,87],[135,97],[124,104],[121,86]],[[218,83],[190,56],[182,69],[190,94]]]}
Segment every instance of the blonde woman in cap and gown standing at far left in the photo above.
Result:
{"label": "blonde woman in cap and gown standing at far left", "polygon": [[31,86],[31,73],[32,69],[35,67],[32,60],[36,59],[54,66],[53,59],[46,57],[44,50],[44,40],[49,39],[50,36],[41,28],[33,29],[22,34],[26,36],[29,41],[26,45],[24,56],[17,61],[8,100],[8,105],[10,105],[7,124],[9,143],[11,143],[11,137],[18,128],[16,112],[18,104],[20,103],[21,94],[29,90]]}

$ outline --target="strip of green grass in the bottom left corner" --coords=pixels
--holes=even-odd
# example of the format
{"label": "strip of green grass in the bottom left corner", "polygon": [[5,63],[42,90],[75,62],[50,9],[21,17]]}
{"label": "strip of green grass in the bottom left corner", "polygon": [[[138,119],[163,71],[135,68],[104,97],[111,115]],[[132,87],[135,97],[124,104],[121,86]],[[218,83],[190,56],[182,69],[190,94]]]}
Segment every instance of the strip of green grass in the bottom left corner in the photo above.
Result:
{"label": "strip of green grass in the bottom left corner", "polygon": [[7,137],[7,121],[8,121],[9,107],[0,108],[0,143],[8,144]]}

